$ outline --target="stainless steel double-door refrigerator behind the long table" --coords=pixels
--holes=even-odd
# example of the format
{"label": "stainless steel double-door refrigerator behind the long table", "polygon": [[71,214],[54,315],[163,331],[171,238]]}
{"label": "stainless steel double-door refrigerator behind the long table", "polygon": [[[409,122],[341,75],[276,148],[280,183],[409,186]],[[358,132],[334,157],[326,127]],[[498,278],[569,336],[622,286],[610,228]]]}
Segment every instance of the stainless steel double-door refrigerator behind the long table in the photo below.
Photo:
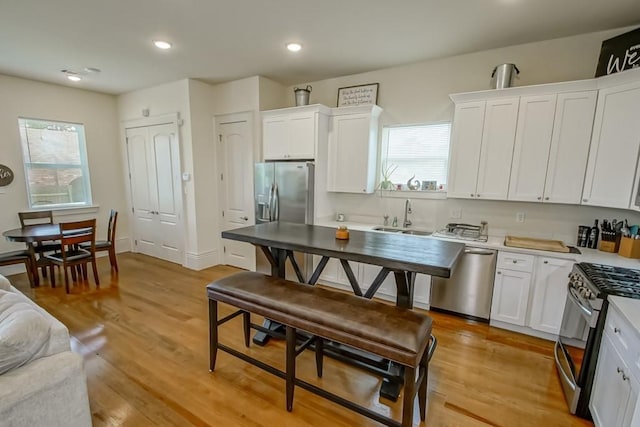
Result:
{"label": "stainless steel double-door refrigerator behind the long table", "polygon": [[[314,164],[312,162],[265,162],[254,168],[256,224],[287,221],[313,224]],[[295,253],[300,270],[308,279],[312,271],[310,255]],[[260,249],[256,269],[271,273],[271,265]],[[287,262],[287,279],[297,280]]]}

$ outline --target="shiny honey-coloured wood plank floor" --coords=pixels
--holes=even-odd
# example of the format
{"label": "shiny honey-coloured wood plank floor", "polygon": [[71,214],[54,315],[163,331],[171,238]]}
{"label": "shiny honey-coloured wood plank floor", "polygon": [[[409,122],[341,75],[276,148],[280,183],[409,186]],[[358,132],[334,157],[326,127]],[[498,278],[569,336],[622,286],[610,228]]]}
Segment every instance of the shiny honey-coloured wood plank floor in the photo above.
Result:
{"label": "shiny honey-coloured wood plank floor", "polygon": [[[90,286],[73,288],[71,295],[63,286],[51,289],[46,280],[32,290],[24,275],[10,277],[68,326],[74,349],[85,358],[95,426],[377,425],[301,389],[288,413],[283,380],[226,353],[219,354],[216,372],[208,371],[205,285],[235,269],[196,272],[130,253],[118,255],[119,276],[110,274],[106,258],[98,264],[100,289],[90,275]],[[592,425],[567,412],[551,342],[438,313],[432,317],[439,345],[429,369],[426,425]],[[221,341],[242,349],[236,320],[222,327]],[[249,352],[283,368],[281,342],[252,345]],[[300,376],[315,381],[313,354],[298,360]],[[317,383],[400,416],[399,405],[378,397],[379,380],[355,368],[327,359]],[[414,419],[418,425],[417,413]]]}

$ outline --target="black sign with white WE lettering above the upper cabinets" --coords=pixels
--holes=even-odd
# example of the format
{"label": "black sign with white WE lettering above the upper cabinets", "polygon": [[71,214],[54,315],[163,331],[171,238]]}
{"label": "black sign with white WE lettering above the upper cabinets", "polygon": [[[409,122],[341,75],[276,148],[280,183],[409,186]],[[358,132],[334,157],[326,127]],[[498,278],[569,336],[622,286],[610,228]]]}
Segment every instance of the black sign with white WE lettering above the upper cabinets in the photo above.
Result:
{"label": "black sign with white WE lettering above the upper cabinets", "polygon": [[640,67],[640,28],[602,42],[596,77],[636,67]]}

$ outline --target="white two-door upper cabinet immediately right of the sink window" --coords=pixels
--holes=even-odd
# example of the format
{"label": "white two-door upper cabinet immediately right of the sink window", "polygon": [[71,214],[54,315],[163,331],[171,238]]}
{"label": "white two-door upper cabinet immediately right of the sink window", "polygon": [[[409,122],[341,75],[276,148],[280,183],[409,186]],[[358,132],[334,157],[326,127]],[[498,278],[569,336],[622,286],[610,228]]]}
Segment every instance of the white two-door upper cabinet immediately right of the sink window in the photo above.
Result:
{"label": "white two-door upper cabinet immediately right of the sink window", "polygon": [[456,103],[448,197],[506,199],[518,98]]}

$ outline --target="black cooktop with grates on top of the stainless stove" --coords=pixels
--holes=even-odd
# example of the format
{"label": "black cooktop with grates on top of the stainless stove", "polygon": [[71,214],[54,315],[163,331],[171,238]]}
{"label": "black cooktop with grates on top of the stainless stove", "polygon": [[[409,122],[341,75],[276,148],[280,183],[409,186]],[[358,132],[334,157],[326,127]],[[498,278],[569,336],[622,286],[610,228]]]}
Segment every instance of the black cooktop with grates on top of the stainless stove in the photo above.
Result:
{"label": "black cooktop with grates on top of the stainless stove", "polygon": [[640,270],[588,262],[578,267],[601,293],[640,299]]}

